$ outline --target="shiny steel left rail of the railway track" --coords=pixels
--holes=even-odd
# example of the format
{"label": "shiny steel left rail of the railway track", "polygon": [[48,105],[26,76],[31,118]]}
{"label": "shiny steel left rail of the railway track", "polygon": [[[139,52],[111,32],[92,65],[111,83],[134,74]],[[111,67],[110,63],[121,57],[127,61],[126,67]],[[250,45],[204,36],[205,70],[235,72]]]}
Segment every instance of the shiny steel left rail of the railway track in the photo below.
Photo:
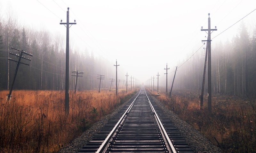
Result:
{"label": "shiny steel left rail of the railway track", "polygon": [[[142,87],[140,88],[140,92],[141,92]],[[96,151],[96,153],[102,153],[104,152],[109,145],[109,142],[111,141],[113,135],[116,133],[116,130],[119,128],[120,124],[123,122],[125,116],[127,115],[127,113],[130,111],[130,109],[132,108],[132,106],[134,105],[134,102],[137,100],[137,98],[140,95],[137,95],[137,97],[133,100],[132,104],[127,108],[127,110],[124,112],[123,116],[119,119],[119,121],[116,123],[115,127],[112,129],[112,131],[108,134],[107,138],[104,140],[104,142],[102,142],[102,144],[100,145],[99,149]]]}

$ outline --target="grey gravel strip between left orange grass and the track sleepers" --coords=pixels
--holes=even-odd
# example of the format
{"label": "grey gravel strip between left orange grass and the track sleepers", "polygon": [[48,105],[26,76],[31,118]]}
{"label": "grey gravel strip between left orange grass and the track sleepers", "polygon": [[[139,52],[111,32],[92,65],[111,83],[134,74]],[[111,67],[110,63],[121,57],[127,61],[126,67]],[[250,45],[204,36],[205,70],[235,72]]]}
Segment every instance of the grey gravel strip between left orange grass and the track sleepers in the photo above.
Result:
{"label": "grey gravel strip between left orange grass and the track sleepers", "polygon": [[99,133],[101,129],[108,123],[108,121],[113,118],[119,110],[121,110],[128,102],[136,98],[136,96],[139,94],[137,92],[133,95],[132,98],[124,102],[122,105],[118,106],[116,109],[113,110],[113,113],[106,115],[102,117],[98,122],[94,123],[91,128],[86,130],[84,133],[76,137],[74,140],[72,140],[70,143],[68,143],[66,146],[60,148],[57,153],[76,153],[79,151],[80,148],[85,146],[90,140],[92,140],[92,137]]}

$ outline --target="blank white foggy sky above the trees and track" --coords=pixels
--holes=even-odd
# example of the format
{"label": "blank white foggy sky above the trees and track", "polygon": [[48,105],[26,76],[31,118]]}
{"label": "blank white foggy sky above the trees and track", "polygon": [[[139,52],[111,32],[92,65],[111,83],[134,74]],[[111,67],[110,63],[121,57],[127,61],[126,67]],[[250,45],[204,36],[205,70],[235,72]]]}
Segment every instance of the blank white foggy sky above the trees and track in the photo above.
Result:
{"label": "blank white foggy sky above the trees and track", "polygon": [[[120,73],[135,76],[141,82],[156,75],[164,76],[164,67],[174,69],[177,61],[192,55],[204,40],[208,13],[212,38],[256,9],[255,0],[0,0],[0,13],[8,10],[21,25],[45,28],[66,37],[67,7],[70,22],[70,43],[79,51],[87,48],[97,56],[117,59]],[[50,11],[49,11],[50,10]],[[243,19],[249,30],[256,25],[256,11]],[[239,23],[212,41],[232,37]],[[65,39],[64,39],[65,40]],[[113,69],[115,67],[113,66]],[[125,78],[125,77],[124,77]],[[123,78],[123,79],[124,79]]]}

